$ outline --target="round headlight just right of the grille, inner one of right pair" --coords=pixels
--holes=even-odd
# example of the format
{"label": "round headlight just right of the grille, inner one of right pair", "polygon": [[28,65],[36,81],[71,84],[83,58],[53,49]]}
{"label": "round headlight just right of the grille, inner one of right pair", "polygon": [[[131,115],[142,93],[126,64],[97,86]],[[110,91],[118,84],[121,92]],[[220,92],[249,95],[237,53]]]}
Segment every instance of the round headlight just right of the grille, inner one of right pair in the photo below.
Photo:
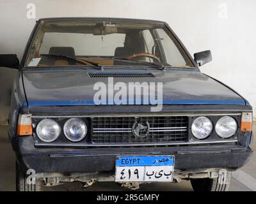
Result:
{"label": "round headlight just right of the grille, inner one of right pair", "polygon": [[207,117],[198,117],[193,121],[191,131],[195,138],[203,140],[212,132],[212,122]]}

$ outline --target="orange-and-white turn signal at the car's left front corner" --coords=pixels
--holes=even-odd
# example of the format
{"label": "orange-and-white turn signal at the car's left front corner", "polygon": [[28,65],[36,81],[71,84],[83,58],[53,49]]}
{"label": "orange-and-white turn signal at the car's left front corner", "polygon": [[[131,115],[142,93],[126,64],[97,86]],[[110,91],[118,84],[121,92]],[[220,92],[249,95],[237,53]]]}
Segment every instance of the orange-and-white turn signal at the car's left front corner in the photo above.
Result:
{"label": "orange-and-white turn signal at the car's left front corner", "polygon": [[19,115],[17,135],[32,135],[31,115]]}

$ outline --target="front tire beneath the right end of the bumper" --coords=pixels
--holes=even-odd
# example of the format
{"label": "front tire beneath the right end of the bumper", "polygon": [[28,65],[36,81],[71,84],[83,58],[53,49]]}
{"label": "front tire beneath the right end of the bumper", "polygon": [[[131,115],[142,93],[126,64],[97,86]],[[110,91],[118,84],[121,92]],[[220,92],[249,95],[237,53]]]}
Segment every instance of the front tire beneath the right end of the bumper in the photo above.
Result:
{"label": "front tire beneath the right end of the bumper", "polygon": [[[225,175],[214,179],[191,179],[191,185],[194,191],[228,191],[232,172],[228,171]],[[225,180],[225,184],[221,184]]]}

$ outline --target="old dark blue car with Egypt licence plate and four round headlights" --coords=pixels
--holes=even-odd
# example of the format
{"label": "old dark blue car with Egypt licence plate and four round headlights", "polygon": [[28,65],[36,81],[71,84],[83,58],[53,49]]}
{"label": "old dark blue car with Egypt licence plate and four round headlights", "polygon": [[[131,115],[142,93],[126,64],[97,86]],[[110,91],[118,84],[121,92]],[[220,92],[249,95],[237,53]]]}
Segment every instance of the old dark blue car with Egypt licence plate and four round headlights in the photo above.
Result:
{"label": "old dark blue car with Egypt licence plate and four round headlights", "polygon": [[252,156],[252,106],[200,72],[165,22],[45,18],[36,22],[13,84],[8,133],[17,191],[79,181],[191,180],[227,191]]}

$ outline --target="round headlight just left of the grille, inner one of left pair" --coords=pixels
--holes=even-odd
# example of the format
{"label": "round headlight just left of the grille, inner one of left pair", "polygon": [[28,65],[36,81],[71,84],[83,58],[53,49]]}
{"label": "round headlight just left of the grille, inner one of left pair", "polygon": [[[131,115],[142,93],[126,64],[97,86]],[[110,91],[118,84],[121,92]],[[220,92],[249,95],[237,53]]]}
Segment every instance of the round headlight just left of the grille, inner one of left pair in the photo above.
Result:
{"label": "round headlight just left of the grille, inner one of left pair", "polygon": [[71,142],[79,142],[86,136],[87,126],[83,120],[73,118],[65,122],[63,132]]}

